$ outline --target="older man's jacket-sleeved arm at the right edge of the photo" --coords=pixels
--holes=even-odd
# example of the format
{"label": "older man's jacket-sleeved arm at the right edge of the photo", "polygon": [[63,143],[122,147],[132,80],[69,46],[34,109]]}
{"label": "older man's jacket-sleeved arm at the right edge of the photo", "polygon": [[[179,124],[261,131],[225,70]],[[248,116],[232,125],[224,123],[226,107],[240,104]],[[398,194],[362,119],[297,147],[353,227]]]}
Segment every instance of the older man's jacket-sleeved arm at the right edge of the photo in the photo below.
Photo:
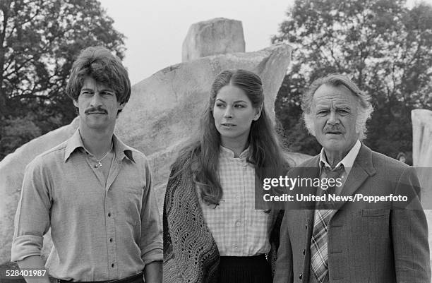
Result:
{"label": "older man's jacket-sleeved arm at the right edge of the photo", "polygon": [[420,204],[420,184],[413,167],[400,176],[395,194],[417,195],[410,208],[391,211],[397,282],[431,282],[428,224]]}

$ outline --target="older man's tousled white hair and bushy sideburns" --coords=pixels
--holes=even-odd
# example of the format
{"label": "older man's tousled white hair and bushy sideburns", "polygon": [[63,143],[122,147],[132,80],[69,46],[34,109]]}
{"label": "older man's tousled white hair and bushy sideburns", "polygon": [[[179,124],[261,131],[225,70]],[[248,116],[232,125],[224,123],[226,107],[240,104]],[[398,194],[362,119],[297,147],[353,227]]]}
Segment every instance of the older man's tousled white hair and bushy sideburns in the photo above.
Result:
{"label": "older man's tousled white hair and bushy sideburns", "polygon": [[321,85],[330,85],[338,87],[344,85],[346,88],[351,90],[352,94],[357,97],[359,102],[357,107],[357,119],[356,119],[356,133],[359,133],[359,140],[366,138],[366,121],[371,118],[373,107],[371,104],[371,95],[367,92],[361,91],[359,87],[352,82],[347,76],[340,73],[332,73],[323,78],[318,78],[311,83],[311,86],[301,97],[301,109],[303,110],[304,123],[306,128],[312,136],[315,136],[313,128],[313,95]]}

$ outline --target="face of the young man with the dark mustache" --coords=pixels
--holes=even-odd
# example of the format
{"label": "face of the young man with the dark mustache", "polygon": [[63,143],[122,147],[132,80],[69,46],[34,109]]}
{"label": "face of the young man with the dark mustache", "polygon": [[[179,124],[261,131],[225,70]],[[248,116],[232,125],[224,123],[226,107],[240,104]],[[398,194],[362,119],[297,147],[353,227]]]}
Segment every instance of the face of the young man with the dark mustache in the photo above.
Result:
{"label": "face of the young man with the dark mustache", "polygon": [[78,100],[73,104],[79,109],[80,125],[95,130],[114,129],[117,112],[124,107],[112,88],[90,77],[85,78]]}

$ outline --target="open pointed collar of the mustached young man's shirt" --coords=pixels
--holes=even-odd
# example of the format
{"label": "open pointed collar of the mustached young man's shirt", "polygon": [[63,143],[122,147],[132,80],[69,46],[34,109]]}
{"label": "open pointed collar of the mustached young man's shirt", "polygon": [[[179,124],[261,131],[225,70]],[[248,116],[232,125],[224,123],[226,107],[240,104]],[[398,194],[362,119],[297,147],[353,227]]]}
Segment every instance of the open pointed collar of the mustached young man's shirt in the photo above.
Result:
{"label": "open pointed collar of the mustached young man's shirt", "polygon": [[[116,157],[119,157],[120,159],[123,159],[124,157],[127,157],[132,162],[135,162],[132,155],[132,148],[125,145],[115,134],[112,135],[112,141],[114,143],[114,150],[116,151]],[[66,143],[66,150],[64,152],[64,162],[68,160],[69,157],[71,157],[72,153],[78,150],[83,150],[83,152],[90,154],[88,150],[85,149],[83,140],[81,139],[80,130],[79,128],[76,130],[75,133],[73,133],[73,136],[68,139]]]}

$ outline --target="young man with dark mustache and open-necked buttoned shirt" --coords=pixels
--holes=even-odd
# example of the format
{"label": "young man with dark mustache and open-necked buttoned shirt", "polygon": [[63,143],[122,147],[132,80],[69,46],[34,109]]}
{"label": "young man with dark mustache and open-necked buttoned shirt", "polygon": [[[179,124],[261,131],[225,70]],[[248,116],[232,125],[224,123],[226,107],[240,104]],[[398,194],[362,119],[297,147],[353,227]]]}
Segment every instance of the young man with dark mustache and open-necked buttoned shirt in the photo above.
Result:
{"label": "young man with dark mustache and open-necked buttoned shirt", "polygon": [[[80,124],[66,142],[28,165],[16,213],[11,258],[57,282],[162,282],[162,229],[148,161],[114,135],[131,95],[121,61],[88,47],[73,64],[66,92]],[[48,283],[44,277],[28,282]]]}

